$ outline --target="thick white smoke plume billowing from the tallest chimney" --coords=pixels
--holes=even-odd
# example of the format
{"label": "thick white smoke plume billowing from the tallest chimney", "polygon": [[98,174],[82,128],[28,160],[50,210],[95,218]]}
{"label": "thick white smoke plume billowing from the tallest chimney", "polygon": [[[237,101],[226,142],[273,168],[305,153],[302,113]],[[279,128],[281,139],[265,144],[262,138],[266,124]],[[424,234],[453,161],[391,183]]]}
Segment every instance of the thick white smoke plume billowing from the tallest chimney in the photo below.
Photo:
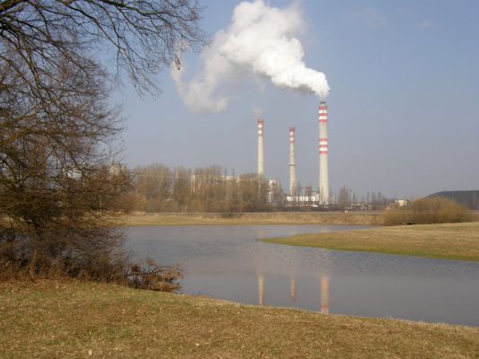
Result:
{"label": "thick white smoke plume billowing from the tallest chimney", "polygon": [[238,4],[229,28],[218,31],[201,54],[200,74],[184,83],[183,68],[172,68],[183,101],[197,113],[226,109],[228,98],[218,88],[235,74],[244,74],[244,69],[271,79],[281,89],[313,92],[325,99],[330,91],[326,76],[306,67],[305,52],[295,37],[304,23],[297,4],[284,9],[269,7],[263,0]]}

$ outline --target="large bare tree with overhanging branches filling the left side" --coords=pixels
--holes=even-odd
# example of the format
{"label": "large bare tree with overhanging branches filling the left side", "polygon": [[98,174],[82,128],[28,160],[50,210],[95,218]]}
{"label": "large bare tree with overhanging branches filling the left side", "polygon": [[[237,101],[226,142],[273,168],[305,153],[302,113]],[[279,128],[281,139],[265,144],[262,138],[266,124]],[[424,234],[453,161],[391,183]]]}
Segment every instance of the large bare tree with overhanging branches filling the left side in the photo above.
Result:
{"label": "large bare tree with overhanging branches filling the left side", "polygon": [[129,173],[112,162],[120,109],[98,53],[153,92],[179,49],[203,44],[199,12],[190,0],[0,0],[3,264],[111,268],[120,235],[105,221]]}

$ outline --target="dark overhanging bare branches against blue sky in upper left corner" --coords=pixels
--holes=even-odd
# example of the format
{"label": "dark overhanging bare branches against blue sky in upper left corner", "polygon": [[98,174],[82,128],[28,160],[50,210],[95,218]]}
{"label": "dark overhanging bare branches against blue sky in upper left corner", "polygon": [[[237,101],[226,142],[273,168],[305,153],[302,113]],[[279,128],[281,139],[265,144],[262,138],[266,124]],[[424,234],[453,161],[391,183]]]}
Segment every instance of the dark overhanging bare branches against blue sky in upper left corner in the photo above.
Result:
{"label": "dark overhanging bare branches against blue sky in upper left corner", "polygon": [[28,71],[38,88],[38,75],[57,69],[58,58],[78,66],[94,50],[111,48],[117,74],[128,73],[139,92],[151,91],[163,66],[181,65],[179,50],[204,44],[199,21],[194,0],[4,0],[0,58],[19,74]]}

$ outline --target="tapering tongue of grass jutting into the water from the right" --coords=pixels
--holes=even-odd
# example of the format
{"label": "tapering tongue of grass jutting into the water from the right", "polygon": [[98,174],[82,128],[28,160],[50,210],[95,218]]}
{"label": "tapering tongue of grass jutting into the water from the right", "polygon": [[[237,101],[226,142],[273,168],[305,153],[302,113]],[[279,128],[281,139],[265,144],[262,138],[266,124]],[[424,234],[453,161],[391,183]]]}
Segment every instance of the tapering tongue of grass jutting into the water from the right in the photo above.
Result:
{"label": "tapering tongue of grass jutting into the water from the right", "polygon": [[327,250],[355,250],[479,261],[479,223],[422,224],[302,234],[263,240]]}

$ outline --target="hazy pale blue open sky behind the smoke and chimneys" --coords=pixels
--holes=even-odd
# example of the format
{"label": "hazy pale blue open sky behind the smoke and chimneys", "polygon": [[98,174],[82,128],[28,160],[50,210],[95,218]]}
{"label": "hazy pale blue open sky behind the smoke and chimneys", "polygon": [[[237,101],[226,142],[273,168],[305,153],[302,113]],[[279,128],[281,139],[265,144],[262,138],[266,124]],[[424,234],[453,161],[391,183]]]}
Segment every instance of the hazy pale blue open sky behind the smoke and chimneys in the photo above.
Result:
{"label": "hazy pale blue open sky behind the smoke and chimneys", "polygon": [[[239,1],[202,0],[210,39],[228,28]],[[266,2],[284,8],[291,1]],[[306,66],[331,87],[329,182],[359,195],[421,197],[441,190],[479,189],[479,2],[295,2],[305,30],[298,36]],[[201,69],[200,54],[183,58]],[[245,73],[222,88],[227,109],[195,114],[171,74],[162,92],[137,95],[125,85],[123,158],[129,166],[219,165],[231,174],[257,170],[258,116],[264,119],[265,174],[288,188],[288,128],[296,127],[297,180],[318,187],[314,94],[281,90]]]}

